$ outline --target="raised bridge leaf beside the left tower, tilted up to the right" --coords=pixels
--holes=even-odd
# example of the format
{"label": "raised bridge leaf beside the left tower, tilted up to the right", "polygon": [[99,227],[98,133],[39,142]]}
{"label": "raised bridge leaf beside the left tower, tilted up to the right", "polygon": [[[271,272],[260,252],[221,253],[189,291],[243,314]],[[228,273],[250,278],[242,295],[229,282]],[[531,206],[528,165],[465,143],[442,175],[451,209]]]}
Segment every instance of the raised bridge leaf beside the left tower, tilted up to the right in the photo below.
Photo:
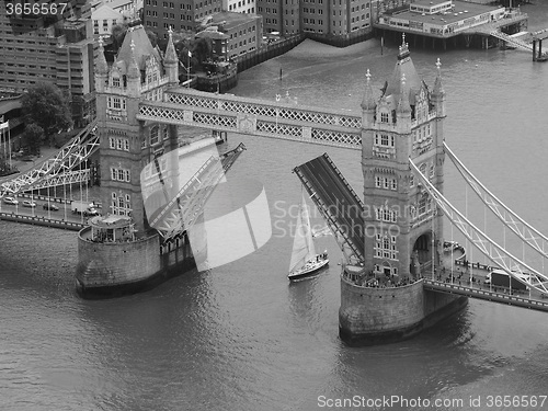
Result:
{"label": "raised bridge leaf beside the left tower, tilted up to the right", "polygon": [[246,146],[240,144],[219,157],[212,156],[152,219],[150,226],[160,232],[164,241],[194,225],[215,187],[243,150]]}

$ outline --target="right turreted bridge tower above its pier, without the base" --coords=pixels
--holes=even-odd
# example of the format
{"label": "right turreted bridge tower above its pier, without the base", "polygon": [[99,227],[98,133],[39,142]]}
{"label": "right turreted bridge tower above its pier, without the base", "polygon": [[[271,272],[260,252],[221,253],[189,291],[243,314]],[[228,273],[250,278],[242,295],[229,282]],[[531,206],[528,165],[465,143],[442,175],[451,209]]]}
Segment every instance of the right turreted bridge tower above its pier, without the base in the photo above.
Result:
{"label": "right turreted bridge tower above its pier, without the base", "polygon": [[443,192],[445,92],[438,75],[432,91],[419,78],[408,45],[399,47],[391,79],[375,99],[367,72],[362,102],[365,269],[412,281],[431,273],[443,252],[443,217],[416,182],[414,161]]}

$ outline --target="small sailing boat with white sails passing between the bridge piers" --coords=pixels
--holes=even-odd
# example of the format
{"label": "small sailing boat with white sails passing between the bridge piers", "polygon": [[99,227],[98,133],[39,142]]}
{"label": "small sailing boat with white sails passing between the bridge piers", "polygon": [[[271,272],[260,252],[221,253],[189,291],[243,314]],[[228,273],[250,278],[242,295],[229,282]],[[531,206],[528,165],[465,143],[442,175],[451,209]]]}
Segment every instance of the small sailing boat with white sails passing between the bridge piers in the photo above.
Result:
{"label": "small sailing boat with white sails passing between the bridge piers", "polygon": [[328,265],[328,263],[327,252],[323,254],[316,253],[308,206],[305,201],[305,195],[302,195],[302,204],[297,219],[297,228],[293,241],[292,262],[289,264],[289,274],[287,277],[290,281],[295,281],[310,276]]}

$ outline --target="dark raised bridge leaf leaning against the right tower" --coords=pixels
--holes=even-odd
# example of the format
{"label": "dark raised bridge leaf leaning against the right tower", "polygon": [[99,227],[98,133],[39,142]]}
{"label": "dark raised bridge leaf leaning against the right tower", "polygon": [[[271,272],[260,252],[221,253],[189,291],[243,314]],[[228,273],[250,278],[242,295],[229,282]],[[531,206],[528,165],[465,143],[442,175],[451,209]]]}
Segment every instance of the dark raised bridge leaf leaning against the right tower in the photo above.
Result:
{"label": "dark raised bridge leaf leaning against the right tower", "polygon": [[293,170],[338,238],[347,261],[364,261],[364,204],[327,153]]}

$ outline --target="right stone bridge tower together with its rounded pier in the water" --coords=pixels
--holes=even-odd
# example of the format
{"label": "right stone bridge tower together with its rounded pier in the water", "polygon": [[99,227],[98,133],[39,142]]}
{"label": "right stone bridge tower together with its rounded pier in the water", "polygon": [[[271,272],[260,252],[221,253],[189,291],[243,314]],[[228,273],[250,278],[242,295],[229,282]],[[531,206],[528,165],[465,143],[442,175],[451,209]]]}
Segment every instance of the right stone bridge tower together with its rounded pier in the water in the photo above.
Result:
{"label": "right stone bridge tower together with its rounded pier in the water", "polygon": [[350,344],[400,341],[459,310],[466,297],[425,290],[442,260],[443,220],[409,160],[443,192],[445,92],[422,81],[408,45],[399,48],[380,98],[370,75],[362,101],[365,253],[341,276],[339,334]]}

